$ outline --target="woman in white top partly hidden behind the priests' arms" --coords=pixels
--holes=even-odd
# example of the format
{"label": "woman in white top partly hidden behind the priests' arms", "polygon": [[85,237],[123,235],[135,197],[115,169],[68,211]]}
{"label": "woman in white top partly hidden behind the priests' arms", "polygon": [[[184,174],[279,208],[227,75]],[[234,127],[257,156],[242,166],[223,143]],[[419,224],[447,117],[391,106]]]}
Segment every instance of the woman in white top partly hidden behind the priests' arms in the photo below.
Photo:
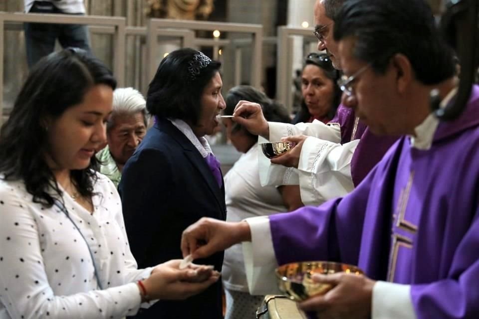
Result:
{"label": "woman in white top partly hidden behind the priests' arms", "polygon": [[[289,123],[286,109],[270,100],[264,93],[251,86],[237,86],[226,97],[226,115],[232,115],[239,101],[261,105],[267,121]],[[258,156],[261,154],[258,137],[229,118],[223,119],[228,138],[235,148],[244,153],[225,176],[227,221],[240,221],[253,216],[266,216],[273,212],[285,212],[302,206],[299,186],[261,186],[258,172]],[[259,154],[258,154],[259,152]],[[248,293],[240,245],[225,251],[222,270],[226,292],[226,319],[254,318],[263,296]]]}

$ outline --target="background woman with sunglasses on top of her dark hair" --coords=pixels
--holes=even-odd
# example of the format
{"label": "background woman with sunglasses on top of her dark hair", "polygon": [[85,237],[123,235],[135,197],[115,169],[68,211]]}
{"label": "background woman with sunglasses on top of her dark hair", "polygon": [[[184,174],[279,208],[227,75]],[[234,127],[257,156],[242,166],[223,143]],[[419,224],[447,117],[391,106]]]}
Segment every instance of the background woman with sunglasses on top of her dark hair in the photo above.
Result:
{"label": "background woman with sunglasses on top of her dark hair", "polygon": [[309,53],[301,72],[301,109],[294,117],[293,124],[314,120],[328,123],[341,100],[337,80],[338,71],[327,54]]}

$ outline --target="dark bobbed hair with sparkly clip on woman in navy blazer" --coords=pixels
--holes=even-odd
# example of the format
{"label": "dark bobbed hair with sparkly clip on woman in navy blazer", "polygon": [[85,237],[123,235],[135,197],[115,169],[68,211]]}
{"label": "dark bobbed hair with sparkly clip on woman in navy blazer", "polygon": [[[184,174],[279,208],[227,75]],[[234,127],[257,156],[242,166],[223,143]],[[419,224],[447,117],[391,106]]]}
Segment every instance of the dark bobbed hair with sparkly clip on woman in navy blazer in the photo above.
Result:
{"label": "dark bobbed hair with sparkly clip on woman in navy blazer", "polygon": [[163,58],[148,88],[146,108],[150,114],[198,123],[203,91],[221,67],[215,60],[203,60],[202,65],[195,60],[199,57],[207,59],[197,50],[182,48]]}

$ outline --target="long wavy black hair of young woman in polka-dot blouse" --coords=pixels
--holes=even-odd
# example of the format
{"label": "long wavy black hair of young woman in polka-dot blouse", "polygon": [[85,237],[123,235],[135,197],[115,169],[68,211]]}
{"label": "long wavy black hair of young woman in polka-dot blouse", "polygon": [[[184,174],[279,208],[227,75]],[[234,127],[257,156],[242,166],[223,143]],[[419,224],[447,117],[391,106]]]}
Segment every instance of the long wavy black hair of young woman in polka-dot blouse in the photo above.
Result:
{"label": "long wavy black hair of young woman in polka-dot blouse", "polygon": [[[97,84],[116,87],[111,71],[78,48],[51,53],[31,69],[0,130],[0,172],[5,180],[22,180],[33,202],[51,207],[54,198],[48,193],[49,187],[62,194],[44,158],[48,141],[45,120],[56,119],[81,103]],[[93,195],[96,175],[92,168],[96,165],[92,157],[87,168],[71,171],[70,177],[83,196]]]}

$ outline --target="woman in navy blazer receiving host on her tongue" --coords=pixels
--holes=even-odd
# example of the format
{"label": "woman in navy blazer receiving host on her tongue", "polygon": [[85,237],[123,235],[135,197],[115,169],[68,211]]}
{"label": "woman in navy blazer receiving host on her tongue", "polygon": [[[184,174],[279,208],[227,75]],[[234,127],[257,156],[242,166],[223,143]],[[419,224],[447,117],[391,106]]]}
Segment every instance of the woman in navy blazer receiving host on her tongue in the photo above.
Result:
{"label": "woman in navy blazer receiving host on her tongue", "polygon": [[[205,135],[225,108],[221,63],[194,49],[170,52],[150,83],[146,107],[155,117],[123,168],[119,190],[126,230],[140,267],[182,258],[181,234],[202,217],[226,219],[220,163]],[[198,260],[220,271],[223,252]],[[218,282],[182,302],[160,301],[136,318],[222,319]]]}

